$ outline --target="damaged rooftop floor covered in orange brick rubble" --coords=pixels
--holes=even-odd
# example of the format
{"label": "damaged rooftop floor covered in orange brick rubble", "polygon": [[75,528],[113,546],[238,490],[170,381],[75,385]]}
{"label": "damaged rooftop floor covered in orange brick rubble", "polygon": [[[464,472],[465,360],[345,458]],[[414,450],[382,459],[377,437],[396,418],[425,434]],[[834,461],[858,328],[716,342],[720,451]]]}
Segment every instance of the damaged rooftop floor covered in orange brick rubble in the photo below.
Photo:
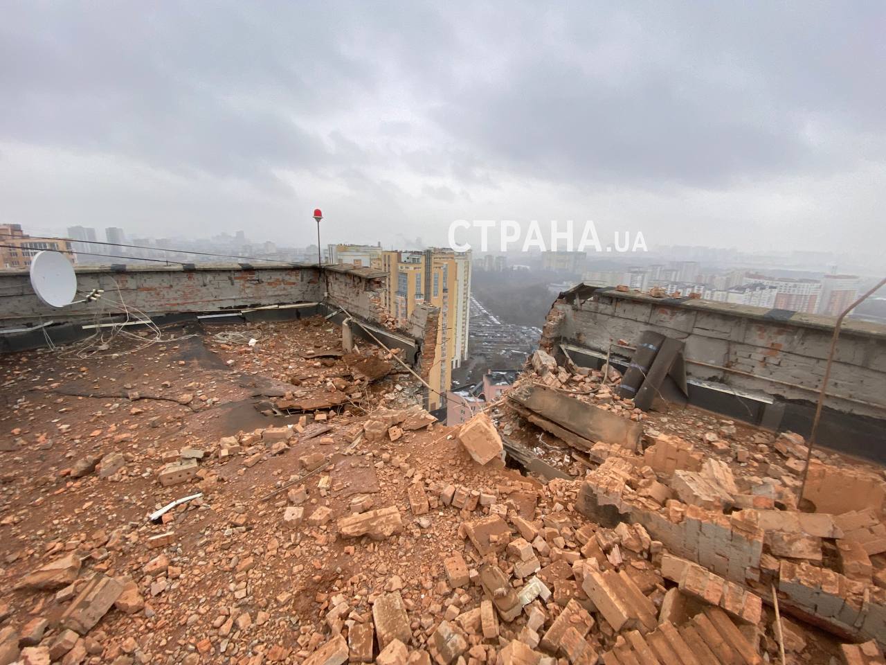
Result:
{"label": "damaged rooftop floor covered in orange brick rubble", "polygon": [[641,411],[550,346],[446,427],[350,338],[0,358],[0,662],[882,662],[882,467],[817,448],[798,500],[804,437]]}

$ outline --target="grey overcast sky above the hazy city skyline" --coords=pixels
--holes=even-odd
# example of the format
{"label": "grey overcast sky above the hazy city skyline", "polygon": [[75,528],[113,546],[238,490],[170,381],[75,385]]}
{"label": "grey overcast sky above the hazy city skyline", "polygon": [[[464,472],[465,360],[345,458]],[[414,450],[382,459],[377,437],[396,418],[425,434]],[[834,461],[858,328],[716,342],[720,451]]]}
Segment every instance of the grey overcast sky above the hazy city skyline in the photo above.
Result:
{"label": "grey overcast sky above the hazy city skyline", "polygon": [[4,3],[0,222],[882,253],[883,35],[879,1]]}

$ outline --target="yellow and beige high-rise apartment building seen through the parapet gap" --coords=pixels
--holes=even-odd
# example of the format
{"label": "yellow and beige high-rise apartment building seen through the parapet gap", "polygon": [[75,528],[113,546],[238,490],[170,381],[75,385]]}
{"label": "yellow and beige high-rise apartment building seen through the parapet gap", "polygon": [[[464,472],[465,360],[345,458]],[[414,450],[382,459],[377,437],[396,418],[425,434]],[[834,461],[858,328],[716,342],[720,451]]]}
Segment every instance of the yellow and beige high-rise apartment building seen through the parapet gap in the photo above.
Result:
{"label": "yellow and beige high-rise apartment building seen through the parapet gap", "polygon": [[334,245],[330,246],[330,258],[336,263],[369,265],[385,271],[387,284],[382,304],[398,325],[406,325],[418,303],[440,310],[437,348],[428,374],[431,386],[428,405],[430,409],[439,409],[446,403],[453,369],[468,358],[470,252],[439,248],[400,251],[383,250],[380,246]]}

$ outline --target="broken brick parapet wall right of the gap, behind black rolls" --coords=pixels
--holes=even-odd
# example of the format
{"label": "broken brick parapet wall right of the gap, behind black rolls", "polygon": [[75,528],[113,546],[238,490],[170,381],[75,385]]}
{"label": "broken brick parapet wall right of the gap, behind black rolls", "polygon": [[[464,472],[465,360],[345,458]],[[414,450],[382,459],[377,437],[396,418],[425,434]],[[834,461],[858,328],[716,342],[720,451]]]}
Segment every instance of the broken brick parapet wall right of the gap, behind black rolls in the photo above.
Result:
{"label": "broken brick parapet wall right of the gap, behind black rolls", "polygon": [[[619,340],[634,346],[651,330],[685,342],[689,379],[814,402],[834,324],[834,317],[579,285],[554,303],[540,346],[566,342],[605,355]],[[618,346],[611,352],[622,359],[632,354]],[[828,394],[851,398],[829,396],[826,405],[836,411],[886,417],[886,326],[843,324]]]}

